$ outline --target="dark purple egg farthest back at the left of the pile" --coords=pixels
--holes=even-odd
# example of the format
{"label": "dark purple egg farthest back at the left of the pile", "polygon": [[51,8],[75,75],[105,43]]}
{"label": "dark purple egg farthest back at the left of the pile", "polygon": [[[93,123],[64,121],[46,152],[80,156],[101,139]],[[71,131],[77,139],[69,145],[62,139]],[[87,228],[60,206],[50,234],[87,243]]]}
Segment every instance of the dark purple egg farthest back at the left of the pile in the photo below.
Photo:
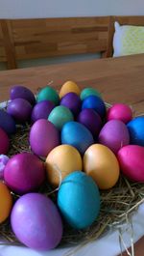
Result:
{"label": "dark purple egg farthest back at the left of the pile", "polygon": [[28,100],[32,105],[36,103],[36,98],[32,91],[22,85],[14,85],[11,88],[10,99],[14,100],[17,98]]}

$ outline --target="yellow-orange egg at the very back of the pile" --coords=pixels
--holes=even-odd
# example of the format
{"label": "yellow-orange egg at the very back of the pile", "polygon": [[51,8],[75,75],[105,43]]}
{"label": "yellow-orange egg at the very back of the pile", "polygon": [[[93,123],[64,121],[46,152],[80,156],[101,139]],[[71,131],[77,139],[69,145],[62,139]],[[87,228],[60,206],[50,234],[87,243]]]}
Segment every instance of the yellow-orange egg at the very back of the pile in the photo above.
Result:
{"label": "yellow-orange egg at the very back of the pile", "polygon": [[66,95],[68,93],[75,93],[77,95],[80,95],[81,90],[76,83],[74,83],[72,81],[67,81],[61,86],[60,98],[62,98],[64,95]]}

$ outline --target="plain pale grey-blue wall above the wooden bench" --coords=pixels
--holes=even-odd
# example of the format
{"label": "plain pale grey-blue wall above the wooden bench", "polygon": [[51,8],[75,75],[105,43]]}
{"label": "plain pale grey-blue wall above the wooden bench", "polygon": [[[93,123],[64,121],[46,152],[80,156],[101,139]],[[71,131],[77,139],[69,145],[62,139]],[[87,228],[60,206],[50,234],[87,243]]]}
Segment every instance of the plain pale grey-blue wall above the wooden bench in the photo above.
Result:
{"label": "plain pale grey-blue wall above the wooden bench", "polygon": [[0,0],[0,18],[144,14],[144,0]]}

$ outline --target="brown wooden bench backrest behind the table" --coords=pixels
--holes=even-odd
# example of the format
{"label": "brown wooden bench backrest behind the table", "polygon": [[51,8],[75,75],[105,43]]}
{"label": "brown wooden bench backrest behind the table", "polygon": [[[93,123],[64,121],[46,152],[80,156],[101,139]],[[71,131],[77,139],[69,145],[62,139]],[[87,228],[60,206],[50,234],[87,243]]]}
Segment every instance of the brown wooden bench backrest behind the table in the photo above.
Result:
{"label": "brown wooden bench backrest behind the table", "polygon": [[101,52],[112,56],[114,21],[144,25],[144,16],[0,19],[0,62]]}

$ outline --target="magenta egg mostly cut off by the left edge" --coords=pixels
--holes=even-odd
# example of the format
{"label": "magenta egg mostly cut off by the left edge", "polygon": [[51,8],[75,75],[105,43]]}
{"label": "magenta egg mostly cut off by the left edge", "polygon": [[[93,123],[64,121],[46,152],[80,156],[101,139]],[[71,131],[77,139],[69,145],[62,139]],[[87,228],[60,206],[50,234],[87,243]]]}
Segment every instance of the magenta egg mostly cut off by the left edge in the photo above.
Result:
{"label": "magenta egg mostly cut off by the left edge", "polygon": [[0,128],[0,154],[7,154],[9,151],[10,140],[3,128]]}

